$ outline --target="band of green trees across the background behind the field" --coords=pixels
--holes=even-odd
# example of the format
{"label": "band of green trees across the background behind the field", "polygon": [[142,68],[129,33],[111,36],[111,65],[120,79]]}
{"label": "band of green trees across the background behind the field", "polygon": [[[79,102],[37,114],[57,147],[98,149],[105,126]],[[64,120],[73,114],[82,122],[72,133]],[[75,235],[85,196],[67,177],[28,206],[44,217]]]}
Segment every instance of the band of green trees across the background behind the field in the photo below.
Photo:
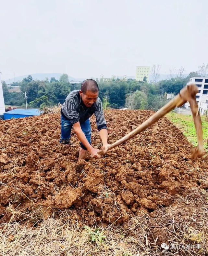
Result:
{"label": "band of green trees across the background behind the field", "polygon": [[[104,108],[129,109],[153,109],[158,110],[166,102],[166,93],[179,93],[190,77],[200,76],[197,72],[191,72],[186,78],[176,77],[160,82],[148,83],[134,79],[98,82],[99,97],[103,101]],[[81,84],[69,83],[68,75],[62,74],[59,80],[51,77],[45,80],[33,80],[32,76],[24,78],[21,82],[12,83],[11,86],[19,86],[20,92],[9,92],[5,81],[2,81],[4,100],[6,105],[25,107],[25,92],[27,103],[31,108],[52,107],[58,103],[63,104],[70,91],[80,89]],[[107,105],[107,106],[105,106]]]}

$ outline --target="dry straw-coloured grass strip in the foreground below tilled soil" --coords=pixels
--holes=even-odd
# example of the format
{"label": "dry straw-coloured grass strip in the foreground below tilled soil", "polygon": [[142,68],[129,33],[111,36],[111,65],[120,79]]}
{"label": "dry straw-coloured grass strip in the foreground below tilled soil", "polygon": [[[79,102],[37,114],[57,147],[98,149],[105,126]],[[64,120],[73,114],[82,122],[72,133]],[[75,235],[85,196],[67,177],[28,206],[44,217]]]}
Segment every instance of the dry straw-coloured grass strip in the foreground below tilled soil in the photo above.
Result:
{"label": "dry straw-coloured grass strip in the foreground below tilled soil", "polygon": [[[172,206],[157,209],[153,214],[141,212],[126,225],[116,227],[112,223],[88,230],[82,223],[71,220],[67,213],[59,219],[45,219],[33,228],[12,222],[11,218],[10,223],[0,225],[0,255],[207,255],[207,198],[206,190],[194,188]],[[164,234],[154,234],[154,227],[168,235],[168,251],[164,252],[160,246]],[[95,234],[95,242],[92,242],[92,234]],[[104,242],[99,242],[99,236],[106,237]],[[180,248],[171,249],[171,244]],[[197,244],[201,249],[187,248]]]}

